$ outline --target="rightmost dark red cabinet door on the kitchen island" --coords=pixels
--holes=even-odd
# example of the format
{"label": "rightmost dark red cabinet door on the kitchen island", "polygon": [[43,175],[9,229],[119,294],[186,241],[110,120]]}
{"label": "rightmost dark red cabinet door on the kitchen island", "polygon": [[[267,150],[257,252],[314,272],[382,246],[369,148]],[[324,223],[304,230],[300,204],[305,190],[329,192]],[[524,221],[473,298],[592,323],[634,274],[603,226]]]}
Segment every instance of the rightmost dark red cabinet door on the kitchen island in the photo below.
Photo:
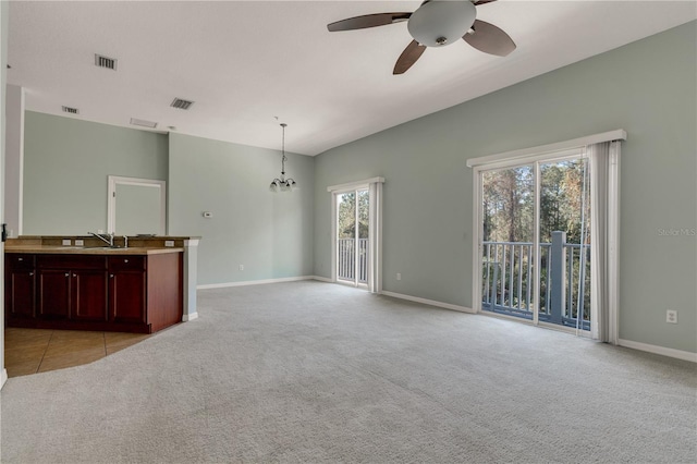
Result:
{"label": "rightmost dark red cabinet door on the kitchen island", "polygon": [[109,320],[145,323],[145,271],[109,272]]}

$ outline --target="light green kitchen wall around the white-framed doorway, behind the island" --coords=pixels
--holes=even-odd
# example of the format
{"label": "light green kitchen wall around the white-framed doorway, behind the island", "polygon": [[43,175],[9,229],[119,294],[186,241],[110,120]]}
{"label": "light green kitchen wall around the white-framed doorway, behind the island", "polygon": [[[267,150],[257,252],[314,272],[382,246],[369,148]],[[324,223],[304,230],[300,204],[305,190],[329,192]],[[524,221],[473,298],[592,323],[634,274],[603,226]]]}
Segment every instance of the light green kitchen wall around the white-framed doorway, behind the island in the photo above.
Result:
{"label": "light green kitchen wall around the white-framed doorway, behind the island", "polygon": [[167,180],[167,135],[26,111],[24,235],[107,230],[109,175]]}

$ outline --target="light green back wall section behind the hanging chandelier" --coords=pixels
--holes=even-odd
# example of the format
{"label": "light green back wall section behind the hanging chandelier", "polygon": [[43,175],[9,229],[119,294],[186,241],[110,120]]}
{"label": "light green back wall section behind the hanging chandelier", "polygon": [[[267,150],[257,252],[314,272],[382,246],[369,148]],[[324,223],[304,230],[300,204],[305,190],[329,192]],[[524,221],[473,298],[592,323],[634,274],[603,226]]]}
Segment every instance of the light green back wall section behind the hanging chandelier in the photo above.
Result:
{"label": "light green back wall section behind the hanging chandelier", "polygon": [[203,236],[199,284],[313,274],[315,162],[286,155],[299,188],[273,193],[278,150],[170,135],[169,231]]}

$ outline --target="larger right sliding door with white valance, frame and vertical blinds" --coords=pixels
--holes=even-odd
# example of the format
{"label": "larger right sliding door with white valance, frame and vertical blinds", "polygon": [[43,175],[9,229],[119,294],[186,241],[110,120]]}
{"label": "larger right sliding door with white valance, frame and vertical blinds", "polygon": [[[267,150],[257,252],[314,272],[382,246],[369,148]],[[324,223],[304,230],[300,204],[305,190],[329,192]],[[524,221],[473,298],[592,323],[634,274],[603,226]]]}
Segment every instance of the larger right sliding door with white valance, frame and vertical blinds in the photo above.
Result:
{"label": "larger right sliding door with white valance, frame and vertical blinds", "polygon": [[617,130],[467,160],[474,309],[617,343],[624,139]]}

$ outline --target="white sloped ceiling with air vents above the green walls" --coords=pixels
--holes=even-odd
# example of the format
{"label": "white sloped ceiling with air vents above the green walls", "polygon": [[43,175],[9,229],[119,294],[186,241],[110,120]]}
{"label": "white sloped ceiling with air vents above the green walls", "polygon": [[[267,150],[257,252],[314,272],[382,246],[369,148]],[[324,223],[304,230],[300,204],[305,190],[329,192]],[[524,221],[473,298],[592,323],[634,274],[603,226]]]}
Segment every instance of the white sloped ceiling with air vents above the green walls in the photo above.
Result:
{"label": "white sloped ceiling with air vents above the green walls", "polygon": [[[406,24],[329,33],[419,1],[12,1],[8,82],[26,109],[317,155],[697,19],[687,1],[500,0],[477,17],[517,44],[506,58],[463,40],[392,69]],[[94,65],[94,54],[118,70]],[[647,63],[650,65],[650,63]],[[174,97],[195,101],[187,111]],[[278,117],[277,121],[274,117]]]}

